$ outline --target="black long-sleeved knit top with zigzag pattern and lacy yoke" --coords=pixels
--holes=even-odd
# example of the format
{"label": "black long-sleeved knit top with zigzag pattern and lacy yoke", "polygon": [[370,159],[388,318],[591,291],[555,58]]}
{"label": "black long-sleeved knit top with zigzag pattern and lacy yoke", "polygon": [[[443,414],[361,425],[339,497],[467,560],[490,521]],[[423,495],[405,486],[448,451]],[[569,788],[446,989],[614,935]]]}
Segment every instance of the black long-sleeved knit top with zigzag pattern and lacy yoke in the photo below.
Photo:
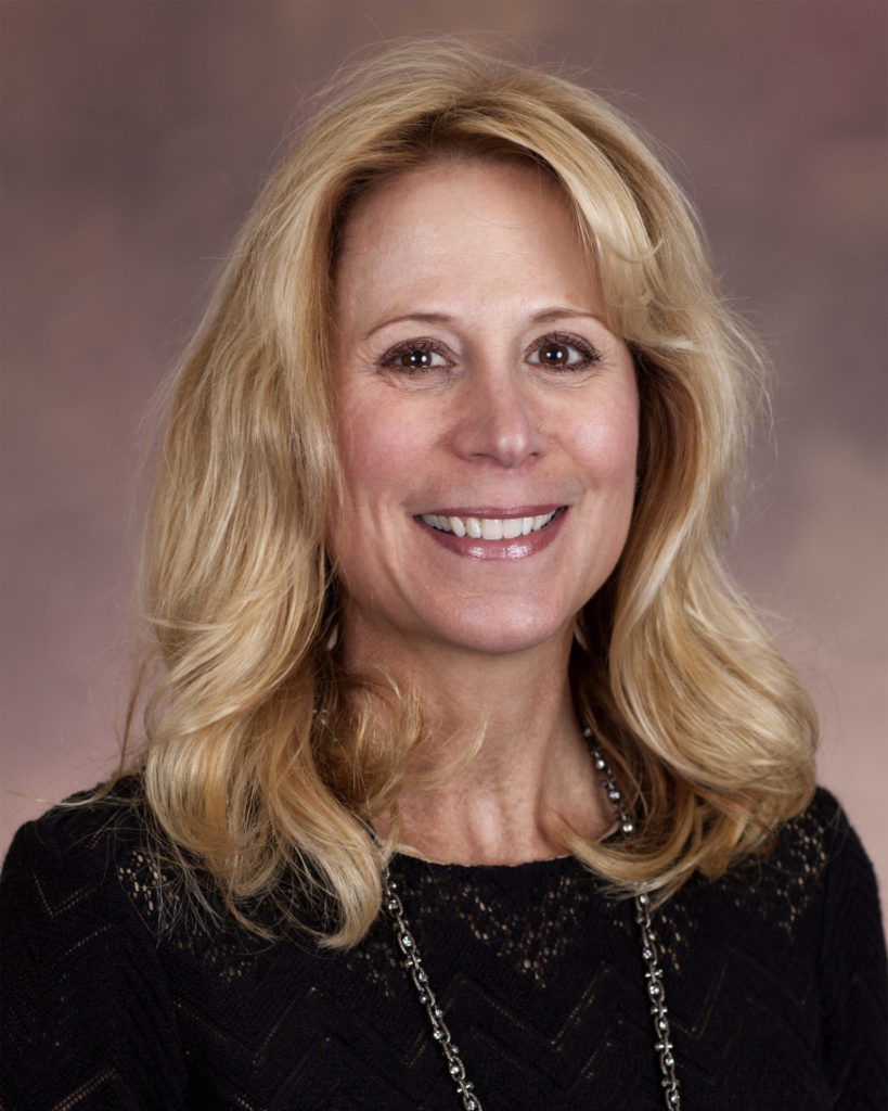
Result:
{"label": "black long-sleeved knit top with zigzag pattern and lacy yoke", "polygon": [[[4,1111],[458,1111],[389,921],[349,953],[161,930],[134,814],[57,809],[9,852]],[[571,859],[393,874],[485,1111],[662,1111],[630,901]],[[830,795],[655,923],[684,1111],[885,1111],[878,898]]]}

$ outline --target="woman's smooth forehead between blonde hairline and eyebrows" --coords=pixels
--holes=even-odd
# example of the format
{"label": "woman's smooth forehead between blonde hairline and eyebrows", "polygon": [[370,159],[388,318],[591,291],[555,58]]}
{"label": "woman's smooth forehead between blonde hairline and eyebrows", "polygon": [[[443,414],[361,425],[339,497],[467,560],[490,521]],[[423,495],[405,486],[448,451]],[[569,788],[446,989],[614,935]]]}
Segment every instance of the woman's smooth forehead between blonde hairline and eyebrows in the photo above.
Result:
{"label": "woman's smooth forehead between blonde hairline and eyebrows", "polygon": [[[594,269],[573,206],[516,161],[440,160],[386,178],[352,209],[335,273],[339,312],[395,299],[494,299],[506,288],[588,300]],[[471,290],[471,292],[470,292]]]}

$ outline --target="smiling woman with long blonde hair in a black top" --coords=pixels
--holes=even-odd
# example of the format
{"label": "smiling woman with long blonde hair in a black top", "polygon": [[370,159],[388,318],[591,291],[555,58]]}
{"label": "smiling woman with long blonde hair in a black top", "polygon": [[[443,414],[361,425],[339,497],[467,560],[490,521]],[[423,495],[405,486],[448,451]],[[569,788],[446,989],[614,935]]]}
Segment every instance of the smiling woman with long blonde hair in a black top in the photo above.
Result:
{"label": "smiling woman with long blonde hair in a black top", "polygon": [[871,869],[716,556],[758,381],[597,97],[341,79],[176,380],[147,743],[7,861],[9,1105],[881,1105]]}

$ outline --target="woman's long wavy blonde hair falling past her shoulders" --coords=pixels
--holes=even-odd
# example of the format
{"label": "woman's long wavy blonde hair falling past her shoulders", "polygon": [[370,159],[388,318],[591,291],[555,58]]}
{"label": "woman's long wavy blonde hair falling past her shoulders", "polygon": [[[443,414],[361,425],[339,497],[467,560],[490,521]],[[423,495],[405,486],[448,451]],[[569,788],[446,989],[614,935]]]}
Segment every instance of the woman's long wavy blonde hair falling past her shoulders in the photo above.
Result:
{"label": "woman's long wavy blonde hair falling past her shoulders", "polygon": [[761,364],[682,192],[577,84],[463,43],[389,49],[337,77],[249,217],[175,381],[147,530],[159,667],[138,765],[167,851],[196,898],[209,875],[253,929],[271,905],[330,945],[379,912],[369,822],[397,813],[422,735],[414,698],[331,648],[335,251],[365,190],[442,157],[561,183],[637,366],[634,519],[571,661],[636,832],[569,849],[665,898],[766,845],[813,788],[808,702],[717,554]]}

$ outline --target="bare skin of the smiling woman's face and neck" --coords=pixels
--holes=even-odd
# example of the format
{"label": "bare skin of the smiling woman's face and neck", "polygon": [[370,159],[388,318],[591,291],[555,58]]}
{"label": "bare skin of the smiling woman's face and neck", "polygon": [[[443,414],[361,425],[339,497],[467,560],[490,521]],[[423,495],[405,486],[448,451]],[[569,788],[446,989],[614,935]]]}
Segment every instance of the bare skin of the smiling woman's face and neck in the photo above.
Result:
{"label": "bare skin of the smiling woman's face and neck", "polygon": [[[344,659],[415,685],[426,772],[487,725],[455,779],[402,800],[402,841],[428,859],[545,859],[563,852],[553,819],[612,824],[567,685],[574,617],[619,558],[635,493],[635,371],[603,318],[567,202],[529,168],[434,162],[345,229],[330,522]],[[423,521],[554,510],[512,540]]]}

